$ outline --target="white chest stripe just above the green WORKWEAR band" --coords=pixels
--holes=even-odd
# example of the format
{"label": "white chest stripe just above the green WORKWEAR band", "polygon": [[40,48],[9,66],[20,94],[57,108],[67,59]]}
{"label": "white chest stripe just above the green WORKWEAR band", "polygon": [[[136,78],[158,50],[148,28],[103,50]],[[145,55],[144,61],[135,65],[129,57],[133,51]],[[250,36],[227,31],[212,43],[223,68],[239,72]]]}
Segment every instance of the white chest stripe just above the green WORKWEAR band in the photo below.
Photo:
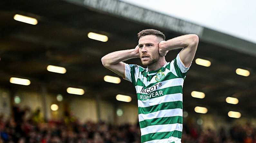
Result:
{"label": "white chest stripe just above the green WORKWEAR band", "polygon": [[[159,83],[161,83],[162,85],[159,86]],[[154,88],[152,88],[153,89],[152,91],[150,91],[151,87],[149,87],[148,91],[153,92],[153,91],[163,89],[163,88],[167,88],[167,87],[171,87],[171,86],[179,86],[179,85],[183,86],[184,79],[183,78],[174,78],[174,79],[169,79],[169,80],[159,82],[159,83],[156,83],[155,85],[151,86],[151,87],[154,87]],[[142,93],[140,91],[143,88],[143,86],[136,85],[135,88],[136,88],[137,93]],[[147,93],[143,93],[143,94],[147,94]]]}

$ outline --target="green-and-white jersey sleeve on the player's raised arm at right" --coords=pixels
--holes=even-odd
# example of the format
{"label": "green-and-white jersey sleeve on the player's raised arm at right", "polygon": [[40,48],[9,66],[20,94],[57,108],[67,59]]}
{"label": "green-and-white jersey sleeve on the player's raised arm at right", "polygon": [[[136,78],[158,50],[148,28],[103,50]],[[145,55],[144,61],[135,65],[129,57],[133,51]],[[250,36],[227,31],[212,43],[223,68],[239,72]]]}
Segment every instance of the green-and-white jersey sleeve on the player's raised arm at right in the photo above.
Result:
{"label": "green-and-white jersey sleeve on the player's raised arm at right", "polygon": [[186,67],[183,61],[180,59],[180,53],[178,53],[178,55],[174,59],[173,64],[174,64],[174,68],[177,76],[185,79],[187,71],[189,70],[191,64],[188,67]]}

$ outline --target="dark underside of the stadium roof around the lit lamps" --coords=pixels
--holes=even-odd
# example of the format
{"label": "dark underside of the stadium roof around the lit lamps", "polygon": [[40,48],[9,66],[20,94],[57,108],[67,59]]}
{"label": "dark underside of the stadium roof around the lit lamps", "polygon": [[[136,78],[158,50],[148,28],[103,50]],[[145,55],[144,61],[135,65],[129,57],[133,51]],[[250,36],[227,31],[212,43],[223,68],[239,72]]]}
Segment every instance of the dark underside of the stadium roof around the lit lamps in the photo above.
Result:
{"label": "dark underside of the stadium roof around the lit lamps", "polygon": [[[156,28],[124,18],[92,11],[66,1],[14,1],[0,2],[0,84],[13,93],[18,90],[40,91],[46,86],[49,93],[66,92],[67,87],[85,89],[83,96],[118,104],[117,94],[132,96],[137,104],[136,91],[131,83],[107,83],[105,75],[114,73],[101,65],[101,57],[117,50],[134,48],[136,34],[140,30]],[[31,16],[38,20],[30,25],[13,19],[15,14]],[[167,39],[180,34],[157,28]],[[88,32],[109,37],[108,42],[89,39]],[[179,50],[170,51],[168,61],[175,58]],[[203,67],[193,61],[184,83],[184,109],[194,112],[195,106],[208,108],[209,114],[227,116],[227,112],[239,111],[242,116],[256,116],[256,58],[231,51],[225,47],[200,41],[196,58],[210,60],[210,67]],[[139,59],[127,63],[140,64]],[[66,74],[46,70],[48,65],[65,67]],[[248,69],[248,77],[235,73],[237,68]],[[31,81],[29,86],[12,84],[10,77],[21,77]],[[204,99],[191,97],[192,91],[205,93]],[[228,96],[239,99],[237,105],[228,104]]]}

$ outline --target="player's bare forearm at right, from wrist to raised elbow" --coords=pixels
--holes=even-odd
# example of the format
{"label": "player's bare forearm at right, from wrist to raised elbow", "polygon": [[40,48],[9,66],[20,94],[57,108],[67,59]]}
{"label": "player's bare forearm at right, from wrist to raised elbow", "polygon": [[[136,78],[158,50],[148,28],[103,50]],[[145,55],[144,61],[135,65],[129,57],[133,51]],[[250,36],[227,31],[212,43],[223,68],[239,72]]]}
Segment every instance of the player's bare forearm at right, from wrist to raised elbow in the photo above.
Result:
{"label": "player's bare forearm at right, from wrist to raised elbow", "polygon": [[184,48],[189,45],[197,44],[198,36],[195,34],[188,34],[183,36],[178,36],[173,39],[167,40],[162,45],[159,44],[159,50],[170,51],[174,49]]}

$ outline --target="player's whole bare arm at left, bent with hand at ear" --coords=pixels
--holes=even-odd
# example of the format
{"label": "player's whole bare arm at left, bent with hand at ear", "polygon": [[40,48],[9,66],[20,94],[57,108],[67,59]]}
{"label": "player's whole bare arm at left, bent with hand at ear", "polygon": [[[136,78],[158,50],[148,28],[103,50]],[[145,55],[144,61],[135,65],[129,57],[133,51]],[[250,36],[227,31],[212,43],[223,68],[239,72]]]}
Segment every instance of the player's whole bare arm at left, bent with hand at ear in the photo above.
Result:
{"label": "player's whole bare arm at left, bent with hand at ear", "polygon": [[125,77],[125,63],[123,61],[139,58],[139,47],[135,49],[111,52],[101,58],[102,65],[116,74]]}

